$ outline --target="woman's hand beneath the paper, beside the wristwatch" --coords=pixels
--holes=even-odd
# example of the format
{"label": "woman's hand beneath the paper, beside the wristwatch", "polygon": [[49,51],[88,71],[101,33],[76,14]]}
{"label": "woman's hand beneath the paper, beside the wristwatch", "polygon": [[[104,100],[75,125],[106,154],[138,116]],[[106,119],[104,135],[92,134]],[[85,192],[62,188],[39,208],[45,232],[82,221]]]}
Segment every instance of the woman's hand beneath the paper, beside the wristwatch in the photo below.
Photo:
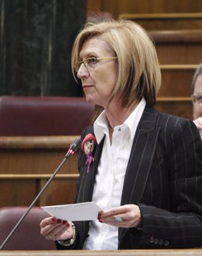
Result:
{"label": "woman's hand beneath the paper, beside the wristwatch", "polygon": [[40,233],[49,240],[67,240],[73,236],[71,222],[48,217],[40,222]]}

